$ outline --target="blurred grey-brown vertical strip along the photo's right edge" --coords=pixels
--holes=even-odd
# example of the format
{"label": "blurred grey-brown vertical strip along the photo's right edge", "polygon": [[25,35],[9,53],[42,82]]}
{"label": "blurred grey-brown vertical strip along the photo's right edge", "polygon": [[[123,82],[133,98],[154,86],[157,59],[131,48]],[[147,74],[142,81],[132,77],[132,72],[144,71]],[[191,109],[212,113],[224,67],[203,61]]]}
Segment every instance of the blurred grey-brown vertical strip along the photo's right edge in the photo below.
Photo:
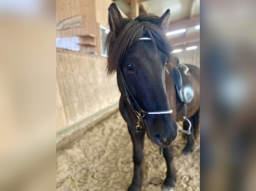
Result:
{"label": "blurred grey-brown vertical strip along the photo's right edge", "polygon": [[256,188],[255,5],[201,4],[202,190]]}

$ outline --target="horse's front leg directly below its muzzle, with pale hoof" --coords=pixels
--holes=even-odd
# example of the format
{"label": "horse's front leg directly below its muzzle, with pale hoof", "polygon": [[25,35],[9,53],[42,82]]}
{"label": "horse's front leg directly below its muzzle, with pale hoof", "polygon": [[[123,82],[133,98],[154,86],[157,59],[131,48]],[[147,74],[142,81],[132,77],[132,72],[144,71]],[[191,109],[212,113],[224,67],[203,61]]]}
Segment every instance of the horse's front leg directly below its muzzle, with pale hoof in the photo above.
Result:
{"label": "horse's front leg directly below its muzzle, with pale hoof", "polygon": [[167,172],[162,191],[173,191],[176,182],[176,172],[173,163],[173,145],[163,148],[163,156],[167,164]]}

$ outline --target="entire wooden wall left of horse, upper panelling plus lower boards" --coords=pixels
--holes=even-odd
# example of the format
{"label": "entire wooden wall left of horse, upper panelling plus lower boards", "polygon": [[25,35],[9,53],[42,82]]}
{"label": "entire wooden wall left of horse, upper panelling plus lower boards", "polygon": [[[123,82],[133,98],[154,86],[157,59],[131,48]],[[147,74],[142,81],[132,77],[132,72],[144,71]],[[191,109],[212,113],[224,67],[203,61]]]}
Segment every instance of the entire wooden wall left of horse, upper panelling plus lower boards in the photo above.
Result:
{"label": "entire wooden wall left of horse, upper panelling plus lower boards", "polygon": [[[79,37],[82,53],[57,48],[56,128],[72,125],[118,102],[116,76],[107,76],[107,58],[101,57],[100,25],[108,26],[111,0],[56,0],[56,24],[82,15],[83,28],[56,31],[57,38]],[[124,18],[125,14],[121,12]]]}

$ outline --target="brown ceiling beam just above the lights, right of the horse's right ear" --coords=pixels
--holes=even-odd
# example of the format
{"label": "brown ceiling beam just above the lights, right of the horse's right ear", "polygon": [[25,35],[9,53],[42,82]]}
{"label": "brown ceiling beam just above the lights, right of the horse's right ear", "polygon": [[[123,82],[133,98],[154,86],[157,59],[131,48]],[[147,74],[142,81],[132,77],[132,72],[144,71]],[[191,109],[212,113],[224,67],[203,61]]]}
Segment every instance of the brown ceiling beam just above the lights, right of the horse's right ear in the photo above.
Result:
{"label": "brown ceiling beam just above the lights, right of the horse's right ear", "polygon": [[193,27],[200,24],[200,14],[195,15],[190,19],[180,19],[176,21],[169,22],[168,31],[174,31],[178,29],[185,29],[188,27]]}

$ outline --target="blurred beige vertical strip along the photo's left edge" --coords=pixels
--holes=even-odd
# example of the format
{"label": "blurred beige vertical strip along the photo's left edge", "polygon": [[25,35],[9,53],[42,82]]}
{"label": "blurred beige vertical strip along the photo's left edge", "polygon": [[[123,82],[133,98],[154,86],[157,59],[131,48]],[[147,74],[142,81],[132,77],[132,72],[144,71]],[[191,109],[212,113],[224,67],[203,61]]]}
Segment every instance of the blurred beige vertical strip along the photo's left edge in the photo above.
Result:
{"label": "blurred beige vertical strip along the photo's left edge", "polygon": [[47,3],[0,2],[1,191],[55,190],[55,13]]}

